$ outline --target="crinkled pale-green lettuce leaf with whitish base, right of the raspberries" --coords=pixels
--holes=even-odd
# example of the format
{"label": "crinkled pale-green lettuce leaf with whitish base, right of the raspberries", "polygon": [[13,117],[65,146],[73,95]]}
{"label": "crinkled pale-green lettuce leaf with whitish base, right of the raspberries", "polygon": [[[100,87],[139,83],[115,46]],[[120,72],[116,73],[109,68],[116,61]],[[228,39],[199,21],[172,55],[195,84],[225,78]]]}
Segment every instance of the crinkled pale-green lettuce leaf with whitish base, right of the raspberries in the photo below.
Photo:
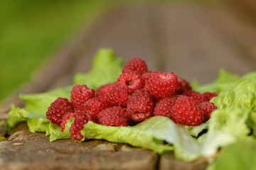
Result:
{"label": "crinkled pale-green lettuce leaf with whitish base, right of the raspberries", "polygon": [[208,132],[201,137],[202,155],[215,154],[219,147],[247,139],[255,127],[256,81],[255,74],[245,75],[235,81],[229,90],[211,99],[218,110],[214,111],[208,124]]}

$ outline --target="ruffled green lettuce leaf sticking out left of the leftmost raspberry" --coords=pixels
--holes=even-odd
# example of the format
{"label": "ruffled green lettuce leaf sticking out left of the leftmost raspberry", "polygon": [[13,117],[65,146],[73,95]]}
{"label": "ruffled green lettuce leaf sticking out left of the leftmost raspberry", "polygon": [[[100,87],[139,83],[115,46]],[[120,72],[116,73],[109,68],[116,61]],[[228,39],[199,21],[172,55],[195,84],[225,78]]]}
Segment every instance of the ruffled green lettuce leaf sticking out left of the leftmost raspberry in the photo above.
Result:
{"label": "ruffled green lettuce leaf sticking out left of the leftmost raspberry", "polygon": [[46,132],[47,125],[50,123],[46,120],[46,111],[58,97],[70,98],[72,87],[48,91],[42,94],[21,94],[20,98],[25,101],[25,108],[11,106],[8,114],[7,123],[9,128],[13,128],[17,123],[27,121],[28,128],[31,132]]}

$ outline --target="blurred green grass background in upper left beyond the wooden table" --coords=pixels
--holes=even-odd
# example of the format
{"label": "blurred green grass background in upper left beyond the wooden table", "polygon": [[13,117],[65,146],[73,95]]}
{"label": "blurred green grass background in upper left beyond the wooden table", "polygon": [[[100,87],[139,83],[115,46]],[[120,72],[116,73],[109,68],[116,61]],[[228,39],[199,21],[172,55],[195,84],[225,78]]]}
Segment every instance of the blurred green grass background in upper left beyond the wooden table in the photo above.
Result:
{"label": "blurred green grass background in upper left beyond the wooden table", "polygon": [[28,82],[54,52],[90,26],[107,8],[128,2],[131,3],[124,0],[0,0],[0,101]]}

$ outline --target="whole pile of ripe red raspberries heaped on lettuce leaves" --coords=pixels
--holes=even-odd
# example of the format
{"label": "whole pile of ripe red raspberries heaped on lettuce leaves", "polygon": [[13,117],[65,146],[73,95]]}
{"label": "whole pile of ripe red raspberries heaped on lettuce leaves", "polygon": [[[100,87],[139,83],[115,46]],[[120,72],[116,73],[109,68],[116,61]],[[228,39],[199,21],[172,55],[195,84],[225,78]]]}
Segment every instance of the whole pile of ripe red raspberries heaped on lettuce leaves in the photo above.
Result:
{"label": "whole pile of ripe red raspberries heaped on lettuce leaves", "polygon": [[152,116],[165,116],[175,123],[197,126],[206,122],[216,109],[210,99],[216,93],[200,94],[174,72],[148,71],[140,58],[130,60],[116,82],[98,89],[85,84],[73,86],[71,101],[57,98],[46,118],[61,127],[75,118],[70,127],[73,140],[82,140],[80,130],[88,121],[107,126],[136,125]]}

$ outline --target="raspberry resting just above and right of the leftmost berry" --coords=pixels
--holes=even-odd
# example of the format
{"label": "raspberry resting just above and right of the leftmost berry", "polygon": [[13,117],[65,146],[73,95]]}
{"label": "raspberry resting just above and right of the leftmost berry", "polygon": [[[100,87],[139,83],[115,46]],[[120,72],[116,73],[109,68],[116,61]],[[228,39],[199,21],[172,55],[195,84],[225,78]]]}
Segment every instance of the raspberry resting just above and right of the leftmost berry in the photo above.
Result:
{"label": "raspberry resting just above and right of the leftmost berry", "polygon": [[93,89],[88,89],[86,85],[75,85],[71,91],[71,101],[75,108],[82,107],[83,103],[95,96]]}

